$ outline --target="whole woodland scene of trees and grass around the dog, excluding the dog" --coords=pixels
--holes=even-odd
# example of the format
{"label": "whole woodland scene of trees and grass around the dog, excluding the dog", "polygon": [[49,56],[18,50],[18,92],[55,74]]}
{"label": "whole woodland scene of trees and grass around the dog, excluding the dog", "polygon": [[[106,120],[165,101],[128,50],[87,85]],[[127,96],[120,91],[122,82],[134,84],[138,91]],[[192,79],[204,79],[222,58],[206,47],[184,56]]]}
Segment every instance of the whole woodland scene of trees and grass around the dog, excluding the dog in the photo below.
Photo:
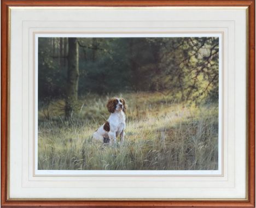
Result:
{"label": "whole woodland scene of trees and grass around the dog, excluding the dog", "polygon": [[[217,169],[219,39],[39,38],[39,169]],[[122,96],[126,142],[92,133]]]}

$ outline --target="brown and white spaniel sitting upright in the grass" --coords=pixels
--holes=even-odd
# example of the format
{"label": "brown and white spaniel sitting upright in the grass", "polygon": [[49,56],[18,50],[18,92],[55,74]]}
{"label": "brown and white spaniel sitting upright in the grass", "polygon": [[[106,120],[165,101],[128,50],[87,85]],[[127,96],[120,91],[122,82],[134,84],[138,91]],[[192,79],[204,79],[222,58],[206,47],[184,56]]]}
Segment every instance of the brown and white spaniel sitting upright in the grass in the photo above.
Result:
{"label": "brown and white spaniel sitting upright in the grass", "polygon": [[124,142],[125,136],[125,111],[126,104],[123,98],[112,98],[107,103],[110,114],[105,124],[100,126],[94,132],[93,138],[103,143],[117,143],[117,137],[120,136],[120,142]]}

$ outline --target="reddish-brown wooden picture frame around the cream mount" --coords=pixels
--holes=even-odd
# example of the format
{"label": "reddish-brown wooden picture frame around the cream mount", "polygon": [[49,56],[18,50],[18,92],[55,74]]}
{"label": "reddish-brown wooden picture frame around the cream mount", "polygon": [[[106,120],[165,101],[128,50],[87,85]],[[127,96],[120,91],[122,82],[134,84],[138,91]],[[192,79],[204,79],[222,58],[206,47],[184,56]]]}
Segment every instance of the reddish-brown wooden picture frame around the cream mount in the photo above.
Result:
{"label": "reddish-brown wooden picture frame around the cream mount", "polygon": [[[9,7],[27,6],[246,6],[248,7],[248,200],[9,200],[8,174],[8,77]],[[2,207],[255,207],[255,0],[2,0],[1,1],[1,206]]]}

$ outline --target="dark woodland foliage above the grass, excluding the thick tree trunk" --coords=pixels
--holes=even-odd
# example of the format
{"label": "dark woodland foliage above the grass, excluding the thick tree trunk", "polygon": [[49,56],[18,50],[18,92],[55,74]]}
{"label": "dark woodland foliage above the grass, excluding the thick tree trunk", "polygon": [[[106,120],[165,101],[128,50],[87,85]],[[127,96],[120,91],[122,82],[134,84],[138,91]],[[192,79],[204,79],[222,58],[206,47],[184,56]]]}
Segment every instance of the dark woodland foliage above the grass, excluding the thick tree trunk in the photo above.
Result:
{"label": "dark woodland foliage above the grass, excluding the thick tree trunk", "polygon": [[[219,39],[78,38],[79,96],[158,91],[197,104],[218,100]],[[39,38],[39,102],[63,98],[67,38]]]}

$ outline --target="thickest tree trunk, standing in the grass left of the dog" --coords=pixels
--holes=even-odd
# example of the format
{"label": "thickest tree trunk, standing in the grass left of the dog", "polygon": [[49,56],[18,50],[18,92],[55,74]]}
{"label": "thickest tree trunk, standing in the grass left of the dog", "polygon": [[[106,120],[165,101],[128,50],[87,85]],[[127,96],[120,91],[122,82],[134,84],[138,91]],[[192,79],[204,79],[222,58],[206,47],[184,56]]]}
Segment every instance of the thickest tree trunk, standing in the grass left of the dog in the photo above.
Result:
{"label": "thickest tree trunk, standing in the grass left of the dog", "polygon": [[72,118],[75,102],[78,95],[78,39],[68,38],[68,72],[67,72],[67,91],[66,91],[66,118]]}

